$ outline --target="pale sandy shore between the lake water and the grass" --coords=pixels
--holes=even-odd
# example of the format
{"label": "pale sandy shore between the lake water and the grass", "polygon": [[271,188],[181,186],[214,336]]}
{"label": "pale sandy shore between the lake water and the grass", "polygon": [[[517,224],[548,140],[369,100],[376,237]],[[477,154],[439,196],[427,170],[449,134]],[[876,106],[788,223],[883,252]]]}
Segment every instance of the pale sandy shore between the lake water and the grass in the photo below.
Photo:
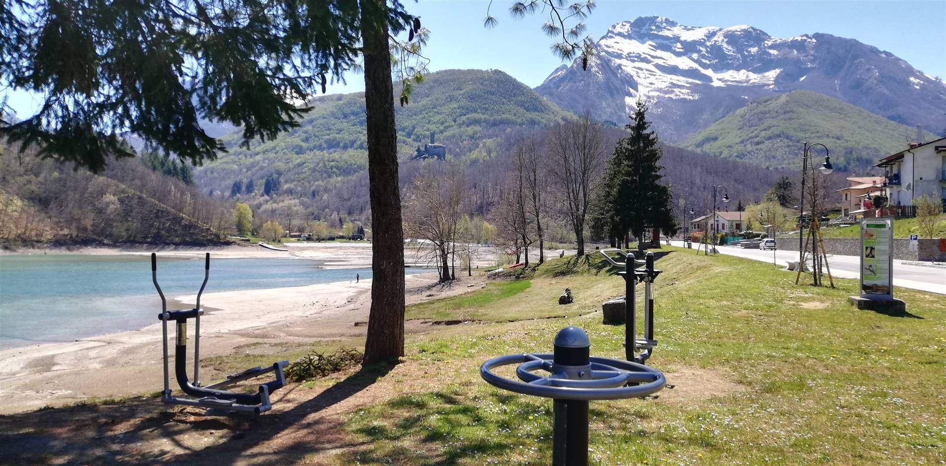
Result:
{"label": "pale sandy shore between the lake water and the grass", "polygon": [[[405,277],[405,295],[408,303],[424,302],[479,289],[485,280],[464,277],[460,283],[438,285],[435,273],[412,274]],[[367,326],[359,323],[368,319],[371,282],[205,293],[201,302],[211,312],[201,319],[201,359],[305,351],[320,341],[364,337]],[[196,293],[173,297],[184,307],[195,298]],[[406,326],[411,333],[431,328],[416,321]],[[155,319],[138,330],[0,350],[0,379],[5,382],[0,385],[5,400],[0,414],[158,391],[161,338]],[[221,376],[213,366],[204,366],[201,373],[208,380]],[[171,384],[175,386],[173,380]]]}

